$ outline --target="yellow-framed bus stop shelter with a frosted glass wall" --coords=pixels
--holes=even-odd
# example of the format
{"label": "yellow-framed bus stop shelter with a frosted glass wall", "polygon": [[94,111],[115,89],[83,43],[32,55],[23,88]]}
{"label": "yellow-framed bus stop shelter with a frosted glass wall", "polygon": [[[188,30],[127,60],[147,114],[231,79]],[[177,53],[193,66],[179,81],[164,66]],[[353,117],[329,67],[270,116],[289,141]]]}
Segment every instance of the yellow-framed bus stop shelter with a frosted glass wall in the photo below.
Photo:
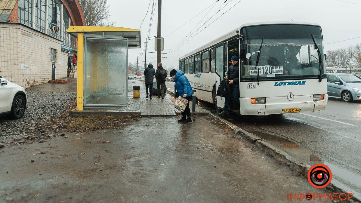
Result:
{"label": "yellow-framed bus stop shelter with a frosted glass wall", "polygon": [[77,109],[127,105],[128,49],[141,48],[140,30],[70,26],[78,38]]}

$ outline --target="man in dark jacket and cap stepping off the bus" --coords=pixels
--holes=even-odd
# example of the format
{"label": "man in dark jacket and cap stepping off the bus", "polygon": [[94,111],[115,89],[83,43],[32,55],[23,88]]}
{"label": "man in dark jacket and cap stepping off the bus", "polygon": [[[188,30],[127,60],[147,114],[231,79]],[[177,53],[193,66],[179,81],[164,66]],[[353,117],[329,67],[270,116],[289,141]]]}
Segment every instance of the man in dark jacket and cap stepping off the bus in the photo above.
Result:
{"label": "man in dark jacket and cap stepping off the bus", "polygon": [[[227,70],[227,76],[225,77],[231,88],[233,88],[233,98],[239,103],[239,66],[238,66],[238,56],[232,56],[231,58],[232,65],[229,66]],[[219,113],[219,115],[228,115],[229,113],[229,103],[231,98],[225,98],[225,107],[223,107],[223,111]]]}

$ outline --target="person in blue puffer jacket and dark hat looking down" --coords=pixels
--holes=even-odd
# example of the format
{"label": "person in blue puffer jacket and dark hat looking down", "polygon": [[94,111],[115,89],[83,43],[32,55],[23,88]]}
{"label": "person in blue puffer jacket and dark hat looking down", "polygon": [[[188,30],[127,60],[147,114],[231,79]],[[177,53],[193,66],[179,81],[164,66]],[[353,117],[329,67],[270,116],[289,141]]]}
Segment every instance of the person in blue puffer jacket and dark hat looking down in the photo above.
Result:
{"label": "person in blue puffer jacket and dark hat looking down", "polygon": [[[188,78],[184,75],[183,71],[182,70],[177,71],[173,69],[170,71],[169,75],[170,77],[173,78],[173,82],[175,82],[175,88],[177,89],[179,96],[183,97],[184,99],[187,99],[188,101],[191,100],[193,95],[193,89],[188,81]],[[189,102],[186,106],[186,109],[182,113],[181,120],[178,120],[178,122],[183,122],[183,123],[192,122],[191,109],[189,109]]]}

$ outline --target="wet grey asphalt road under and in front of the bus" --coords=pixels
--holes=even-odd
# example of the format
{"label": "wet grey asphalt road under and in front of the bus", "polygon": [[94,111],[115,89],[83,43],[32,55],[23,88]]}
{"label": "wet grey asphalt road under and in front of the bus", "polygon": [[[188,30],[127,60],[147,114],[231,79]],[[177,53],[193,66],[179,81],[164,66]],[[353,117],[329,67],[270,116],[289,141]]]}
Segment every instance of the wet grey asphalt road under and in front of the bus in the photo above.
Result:
{"label": "wet grey asphalt road under and in front of the bus", "polygon": [[[210,103],[200,104],[215,112]],[[332,183],[361,198],[361,102],[329,98],[324,111],[223,118],[304,163],[327,165]]]}

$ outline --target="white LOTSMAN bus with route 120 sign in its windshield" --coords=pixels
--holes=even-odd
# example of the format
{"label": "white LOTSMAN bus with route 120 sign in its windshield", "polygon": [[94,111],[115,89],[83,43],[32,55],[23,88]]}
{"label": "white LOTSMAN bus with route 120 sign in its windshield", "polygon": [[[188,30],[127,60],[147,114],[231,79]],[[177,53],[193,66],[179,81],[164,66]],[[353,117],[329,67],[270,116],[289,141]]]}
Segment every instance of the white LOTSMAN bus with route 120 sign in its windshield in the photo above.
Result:
{"label": "white LOTSMAN bus with route 120 sign in its windshield", "polygon": [[327,105],[322,40],[321,27],[314,23],[249,23],[179,58],[179,70],[198,99],[223,108],[225,98],[216,91],[236,55],[240,102],[230,102],[230,111],[241,115],[320,111]]}

